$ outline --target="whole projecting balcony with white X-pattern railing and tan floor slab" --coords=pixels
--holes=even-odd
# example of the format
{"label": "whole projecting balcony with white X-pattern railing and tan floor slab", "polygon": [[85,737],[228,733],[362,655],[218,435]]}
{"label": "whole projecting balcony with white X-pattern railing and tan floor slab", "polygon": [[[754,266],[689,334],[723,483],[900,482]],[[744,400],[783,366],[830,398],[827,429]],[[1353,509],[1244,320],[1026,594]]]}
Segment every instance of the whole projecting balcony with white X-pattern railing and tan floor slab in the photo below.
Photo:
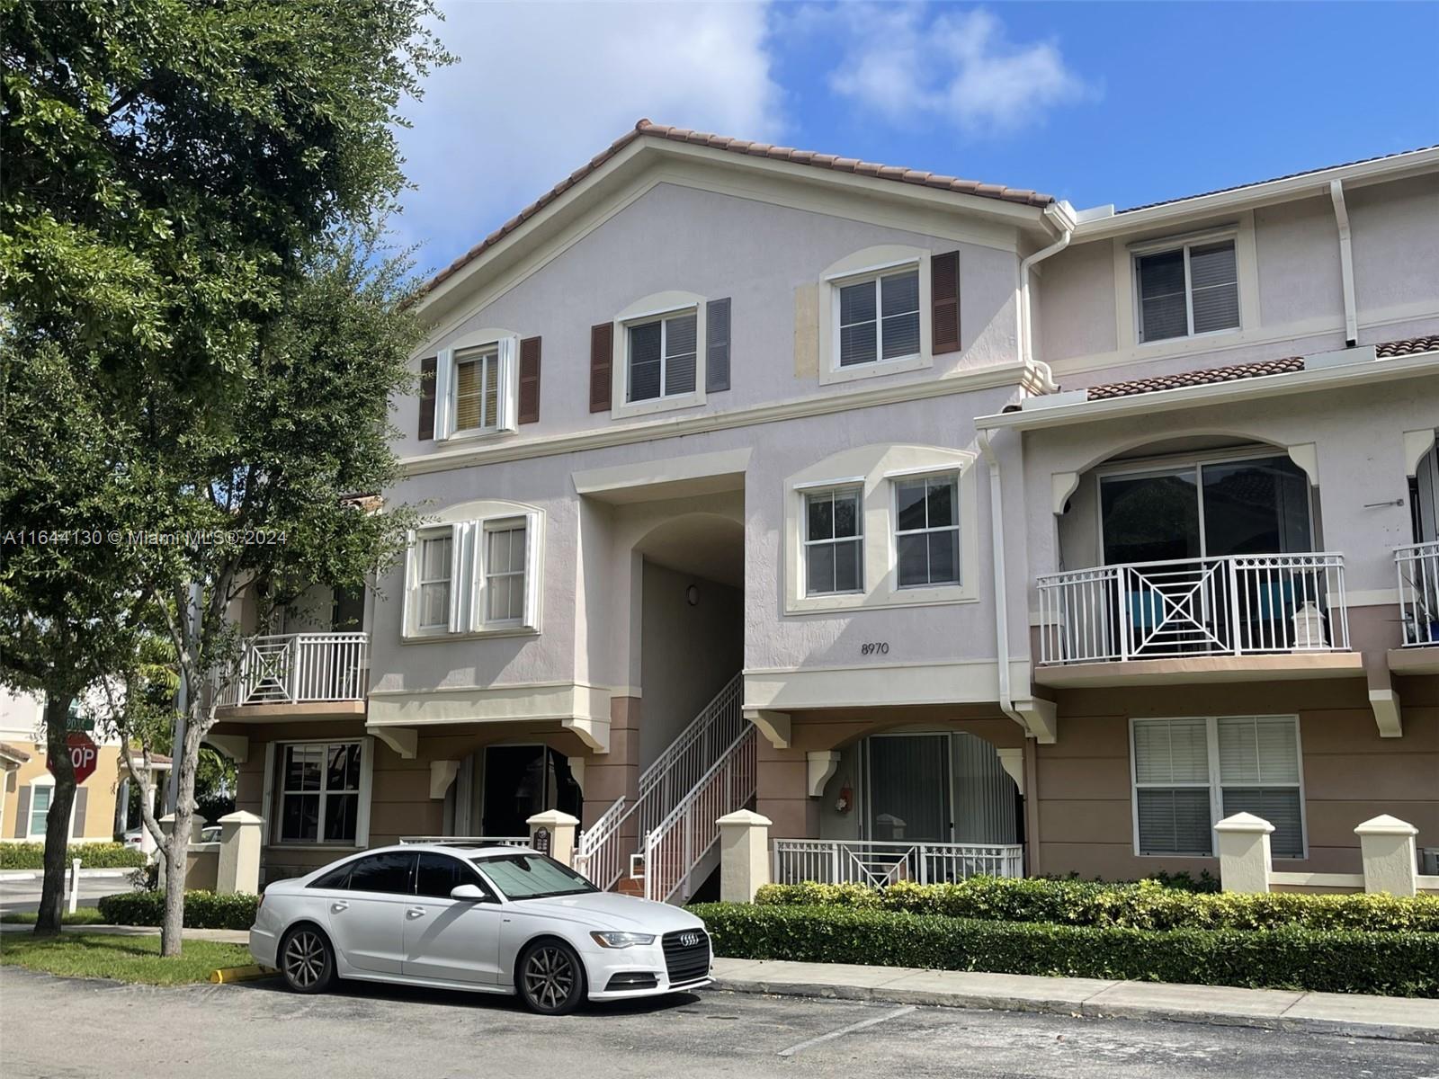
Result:
{"label": "whole projecting balcony with white X-pattern railing and tan floor slab", "polygon": [[[1038,586],[1035,679],[1042,685],[1314,678],[1361,669],[1361,656],[1350,652],[1341,554],[1099,565],[1045,574]],[[1061,673],[1066,669],[1073,673]]]}

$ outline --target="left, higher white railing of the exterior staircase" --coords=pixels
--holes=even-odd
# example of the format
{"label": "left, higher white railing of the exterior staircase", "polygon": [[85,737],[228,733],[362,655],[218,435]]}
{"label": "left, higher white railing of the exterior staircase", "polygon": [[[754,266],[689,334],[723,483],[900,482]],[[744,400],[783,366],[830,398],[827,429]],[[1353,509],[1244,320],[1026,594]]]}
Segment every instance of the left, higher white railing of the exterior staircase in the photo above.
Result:
{"label": "left, higher white railing of the exterior staircase", "polygon": [[574,868],[610,889],[629,868],[645,833],[653,830],[705,775],[709,765],[747,727],[741,709],[744,678],[735,675],[699,715],[640,773],[633,801],[616,798],[580,834]]}

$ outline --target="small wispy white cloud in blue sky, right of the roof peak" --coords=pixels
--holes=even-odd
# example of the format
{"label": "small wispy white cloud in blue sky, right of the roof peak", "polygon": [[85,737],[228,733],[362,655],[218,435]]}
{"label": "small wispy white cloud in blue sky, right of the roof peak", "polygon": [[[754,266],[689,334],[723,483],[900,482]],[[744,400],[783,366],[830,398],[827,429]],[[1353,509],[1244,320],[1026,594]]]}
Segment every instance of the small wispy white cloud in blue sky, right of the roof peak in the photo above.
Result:
{"label": "small wispy white cloud in blue sky, right of the roof peak", "polygon": [[984,9],[930,17],[922,6],[845,4],[810,9],[806,22],[817,19],[845,42],[830,89],[892,122],[1007,134],[1094,95],[1053,42],[1013,45]]}

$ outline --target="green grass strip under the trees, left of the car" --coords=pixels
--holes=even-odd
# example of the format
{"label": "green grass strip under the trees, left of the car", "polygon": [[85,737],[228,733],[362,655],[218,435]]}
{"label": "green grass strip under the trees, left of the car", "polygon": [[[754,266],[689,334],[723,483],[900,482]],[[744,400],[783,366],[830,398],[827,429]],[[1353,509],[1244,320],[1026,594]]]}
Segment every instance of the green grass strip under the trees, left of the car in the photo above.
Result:
{"label": "green grass strip under the trees, left of the car", "polygon": [[114,978],[150,985],[209,981],[217,967],[253,962],[243,944],[186,941],[176,958],[161,958],[160,935],[119,937],[66,932],[36,939],[29,934],[0,937],[0,965],[24,967],[66,978]]}

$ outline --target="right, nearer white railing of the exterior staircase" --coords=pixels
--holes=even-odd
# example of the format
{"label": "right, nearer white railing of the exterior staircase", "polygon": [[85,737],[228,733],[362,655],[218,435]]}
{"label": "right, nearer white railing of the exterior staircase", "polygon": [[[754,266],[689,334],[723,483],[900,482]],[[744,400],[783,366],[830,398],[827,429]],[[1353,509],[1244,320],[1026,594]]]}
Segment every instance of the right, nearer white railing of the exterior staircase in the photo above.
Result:
{"label": "right, nearer white railing of the exterior staircase", "polygon": [[[652,832],[645,836],[645,898],[669,902],[691,883],[689,875],[720,842],[715,823],[754,797],[755,729],[730,744],[724,755]],[[679,896],[688,899],[688,888]]]}

